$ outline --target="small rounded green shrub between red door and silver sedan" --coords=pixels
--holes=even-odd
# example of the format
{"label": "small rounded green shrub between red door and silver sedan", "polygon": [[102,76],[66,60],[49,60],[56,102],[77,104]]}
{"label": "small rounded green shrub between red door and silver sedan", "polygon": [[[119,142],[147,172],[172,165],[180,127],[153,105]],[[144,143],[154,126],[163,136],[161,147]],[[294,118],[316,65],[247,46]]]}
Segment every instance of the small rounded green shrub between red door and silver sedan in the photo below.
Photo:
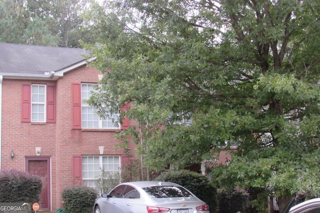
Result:
{"label": "small rounded green shrub between red door and silver sedan", "polygon": [[94,188],[75,185],[62,191],[63,207],[68,213],[91,212],[97,192]]}

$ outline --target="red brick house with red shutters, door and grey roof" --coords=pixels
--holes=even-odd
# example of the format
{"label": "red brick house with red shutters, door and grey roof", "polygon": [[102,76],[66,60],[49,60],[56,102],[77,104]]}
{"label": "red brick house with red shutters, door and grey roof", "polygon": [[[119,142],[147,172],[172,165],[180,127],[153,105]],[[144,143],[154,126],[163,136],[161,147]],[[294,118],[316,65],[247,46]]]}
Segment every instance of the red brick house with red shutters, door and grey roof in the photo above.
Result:
{"label": "red brick house with red shutters, door and grey roof", "polygon": [[[62,206],[65,187],[93,186],[100,168],[117,172],[129,160],[114,148],[121,142],[114,135],[132,121],[118,127],[81,101],[102,76],[84,54],[0,43],[0,169],[40,175],[42,211]],[[135,154],[133,143],[129,148]]]}

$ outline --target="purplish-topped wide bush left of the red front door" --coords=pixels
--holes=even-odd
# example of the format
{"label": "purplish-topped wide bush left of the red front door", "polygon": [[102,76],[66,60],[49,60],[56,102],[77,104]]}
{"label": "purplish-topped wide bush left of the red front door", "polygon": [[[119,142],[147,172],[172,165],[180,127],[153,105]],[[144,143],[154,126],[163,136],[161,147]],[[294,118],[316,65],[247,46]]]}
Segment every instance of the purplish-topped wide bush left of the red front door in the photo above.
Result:
{"label": "purplish-topped wide bush left of the red front door", "polygon": [[38,175],[14,169],[0,171],[0,202],[38,202],[41,190]]}

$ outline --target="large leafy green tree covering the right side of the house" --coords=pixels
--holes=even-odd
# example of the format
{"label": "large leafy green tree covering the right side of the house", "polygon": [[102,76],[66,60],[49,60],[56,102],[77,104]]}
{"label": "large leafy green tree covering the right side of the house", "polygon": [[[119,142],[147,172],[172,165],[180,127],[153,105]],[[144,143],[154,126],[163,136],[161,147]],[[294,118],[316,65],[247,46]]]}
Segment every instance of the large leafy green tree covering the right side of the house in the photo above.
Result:
{"label": "large leafy green tree covering the right side of the house", "polygon": [[90,17],[106,73],[91,104],[131,104],[146,165],[237,145],[217,184],[320,195],[319,0],[117,0]]}

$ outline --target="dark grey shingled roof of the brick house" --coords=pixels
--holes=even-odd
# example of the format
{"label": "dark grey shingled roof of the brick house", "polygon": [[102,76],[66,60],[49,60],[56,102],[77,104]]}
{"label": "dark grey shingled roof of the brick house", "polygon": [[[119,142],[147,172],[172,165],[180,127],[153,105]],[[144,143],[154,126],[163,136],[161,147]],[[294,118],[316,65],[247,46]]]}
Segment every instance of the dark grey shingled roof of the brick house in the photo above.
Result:
{"label": "dark grey shingled roof of the brick house", "polygon": [[0,75],[52,77],[85,64],[88,55],[82,48],[0,43]]}

